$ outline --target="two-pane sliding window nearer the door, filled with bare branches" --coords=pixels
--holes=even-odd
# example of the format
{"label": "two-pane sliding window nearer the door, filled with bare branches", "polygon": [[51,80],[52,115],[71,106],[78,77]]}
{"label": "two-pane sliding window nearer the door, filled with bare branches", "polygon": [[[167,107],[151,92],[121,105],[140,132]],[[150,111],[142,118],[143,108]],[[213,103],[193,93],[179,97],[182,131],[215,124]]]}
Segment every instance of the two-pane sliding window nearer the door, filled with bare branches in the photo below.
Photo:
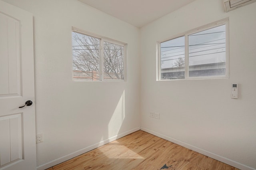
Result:
{"label": "two-pane sliding window nearer the door, filled with bare branches", "polygon": [[124,80],[125,44],[72,31],[73,80]]}

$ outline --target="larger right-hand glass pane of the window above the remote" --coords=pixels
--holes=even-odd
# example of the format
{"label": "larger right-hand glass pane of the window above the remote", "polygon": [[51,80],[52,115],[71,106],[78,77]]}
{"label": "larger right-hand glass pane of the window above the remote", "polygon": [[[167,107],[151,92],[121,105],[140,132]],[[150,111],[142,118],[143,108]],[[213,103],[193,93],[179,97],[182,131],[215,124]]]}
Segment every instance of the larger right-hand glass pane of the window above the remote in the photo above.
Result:
{"label": "larger right-hand glass pane of the window above the remote", "polygon": [[226,25],[188,36],[189,77],[226,74]]}

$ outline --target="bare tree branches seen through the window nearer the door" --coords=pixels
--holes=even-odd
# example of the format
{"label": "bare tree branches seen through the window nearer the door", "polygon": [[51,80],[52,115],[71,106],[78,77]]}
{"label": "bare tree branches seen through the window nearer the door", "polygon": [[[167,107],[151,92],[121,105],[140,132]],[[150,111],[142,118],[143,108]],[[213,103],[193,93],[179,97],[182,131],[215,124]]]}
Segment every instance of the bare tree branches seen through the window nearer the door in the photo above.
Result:
{"label": "bare tree branches seen through the window nearer the door", "polygon": [[[73,69],[93,76],[100,73],[100,39],[74,33]],[[114,43],[103,43],[104,78],[124,79],[124,47]],[[98,77],[99,79],[99,77]]]}

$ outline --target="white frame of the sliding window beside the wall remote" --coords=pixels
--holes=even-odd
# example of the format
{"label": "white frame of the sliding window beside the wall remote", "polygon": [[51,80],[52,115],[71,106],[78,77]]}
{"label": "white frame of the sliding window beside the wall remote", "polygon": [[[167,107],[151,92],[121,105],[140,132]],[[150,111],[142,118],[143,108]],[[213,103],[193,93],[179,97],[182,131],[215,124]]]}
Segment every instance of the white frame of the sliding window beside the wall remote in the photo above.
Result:
{"label": "white frame of the sliding window beside the wall remote", "polygon": [[[222,25],[226,25],[226,74],[222,75],[222,76],[200,76],[200,77],[189,77],[189,64],[188,64],[188,55],[189,55],[189,44],[188,44],[188,36],[190,36],[191,34],[195,34],[197,32],[201,32],[204,30],[208,30],[214,27],[218,27],[218,26],[222,26]],[[198,28],[195,28],[193,30],[190,30],[188,32],[185,32],[183,34],[178,34],[177,36],[173,36],[172,38],[168,38],[168,39],[164,39],[162,41],[158,41],[156,43],[156,54],[157,54],[157,62],[156,62],[156,81],[170,81],[168,80],[162,80],[161,79],[161,43],[162,42],[166,42],[169,40],[173,40],[179,37],[185,37],[185,79],[170,79],[170,80],[188,80],[188,79],[228,79],[229,75],[230,75],[230,65],[229,65],[229,18],[225,18],[223,20],[219,20],[217,22],[213,22]]]}

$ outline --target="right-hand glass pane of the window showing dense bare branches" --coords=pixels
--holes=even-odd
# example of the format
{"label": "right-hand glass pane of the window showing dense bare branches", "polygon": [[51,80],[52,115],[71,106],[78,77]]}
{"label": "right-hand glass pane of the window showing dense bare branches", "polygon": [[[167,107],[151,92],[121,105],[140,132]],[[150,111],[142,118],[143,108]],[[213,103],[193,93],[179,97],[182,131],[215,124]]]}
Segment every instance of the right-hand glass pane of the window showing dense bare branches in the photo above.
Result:
{"label": "right-hand glass pane of the window showing dense bare branches", "polygon": [[104,79],[124,79],[124,46],[104,42]]}

